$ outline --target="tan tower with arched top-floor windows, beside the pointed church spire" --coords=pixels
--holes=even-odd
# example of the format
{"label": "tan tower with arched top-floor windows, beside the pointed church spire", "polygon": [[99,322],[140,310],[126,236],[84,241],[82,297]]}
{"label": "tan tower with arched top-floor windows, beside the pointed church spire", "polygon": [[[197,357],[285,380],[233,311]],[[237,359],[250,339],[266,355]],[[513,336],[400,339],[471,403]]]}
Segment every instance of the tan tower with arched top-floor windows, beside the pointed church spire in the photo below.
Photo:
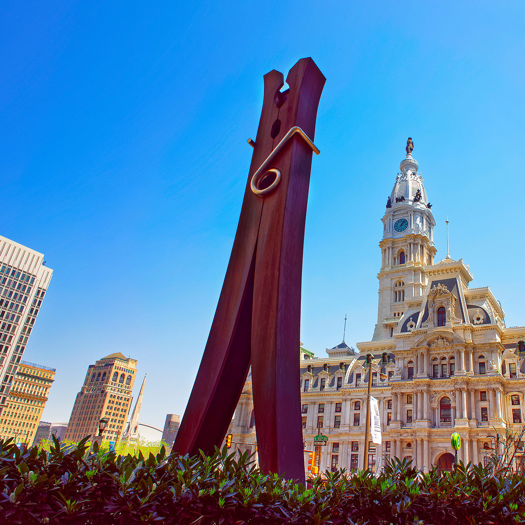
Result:
{"label": "tan tower with arched top-floor windows, beside the pointed church spire", "polygon": [[78,442],[88,435],[98,436],[99,421],[107,417],[109,423],[102,436],[117,442],[128,419],[136,373],[137,360],[120,352],[89,365],[64,439]]}

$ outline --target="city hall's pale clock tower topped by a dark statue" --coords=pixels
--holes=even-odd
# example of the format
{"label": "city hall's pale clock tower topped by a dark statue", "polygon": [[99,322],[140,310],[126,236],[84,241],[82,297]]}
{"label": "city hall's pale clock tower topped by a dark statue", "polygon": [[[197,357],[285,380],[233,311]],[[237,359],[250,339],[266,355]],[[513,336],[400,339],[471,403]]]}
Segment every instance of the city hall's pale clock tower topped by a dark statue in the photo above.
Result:
{"label": "city hall's pale clock tower topped by a dark statue", "polygon": [[425,267],[434,264],[436,224],[428,202],[423,177],[412,158],[412,139],[406,143],[394,189],[386,202],[381,248],[379,307],[372,340],[392,338],[405,311],[405,300],[423,295]]}

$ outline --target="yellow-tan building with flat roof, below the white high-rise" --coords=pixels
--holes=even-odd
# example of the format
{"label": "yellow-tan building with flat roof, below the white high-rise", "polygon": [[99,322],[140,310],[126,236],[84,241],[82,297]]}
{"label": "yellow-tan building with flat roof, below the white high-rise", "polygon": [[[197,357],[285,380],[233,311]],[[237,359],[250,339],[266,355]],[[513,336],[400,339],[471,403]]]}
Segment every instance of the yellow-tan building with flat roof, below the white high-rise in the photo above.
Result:
{"label": "yellow-tan building with flat roof, below the white high-rise", "polygon": [[56,369],[20,361],[7,401],[0,415],[0,439],[31,445],[46,406]]}

